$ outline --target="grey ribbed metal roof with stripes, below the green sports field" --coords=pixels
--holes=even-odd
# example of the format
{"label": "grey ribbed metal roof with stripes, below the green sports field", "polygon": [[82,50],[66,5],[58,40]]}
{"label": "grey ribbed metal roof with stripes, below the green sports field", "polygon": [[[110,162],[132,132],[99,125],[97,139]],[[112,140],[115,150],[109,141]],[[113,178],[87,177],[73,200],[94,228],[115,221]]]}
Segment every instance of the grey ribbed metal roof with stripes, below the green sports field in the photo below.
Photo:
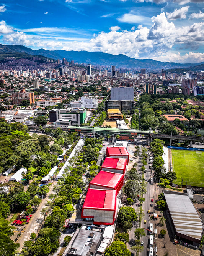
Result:
{"label": "grey ribbed metal roof with stripes, below the green sports field", "polygon": [[176,232],[201,240],[203,224],[188,194],[163,190]]}

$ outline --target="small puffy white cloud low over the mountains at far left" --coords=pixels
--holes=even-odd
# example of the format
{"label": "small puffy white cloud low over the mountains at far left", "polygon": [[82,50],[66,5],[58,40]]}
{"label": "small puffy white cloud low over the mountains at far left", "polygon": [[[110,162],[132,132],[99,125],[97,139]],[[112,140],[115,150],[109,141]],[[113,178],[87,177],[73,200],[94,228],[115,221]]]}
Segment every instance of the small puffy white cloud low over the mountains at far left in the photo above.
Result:
{"label": "small puffy white cloud low over the mountains at far left", "polygon": [[34,45],[34,42],[28,39],[27,35],[23,32],[15,32],[12,34],[4,35],[4,42],[11,43],[12,45]]}

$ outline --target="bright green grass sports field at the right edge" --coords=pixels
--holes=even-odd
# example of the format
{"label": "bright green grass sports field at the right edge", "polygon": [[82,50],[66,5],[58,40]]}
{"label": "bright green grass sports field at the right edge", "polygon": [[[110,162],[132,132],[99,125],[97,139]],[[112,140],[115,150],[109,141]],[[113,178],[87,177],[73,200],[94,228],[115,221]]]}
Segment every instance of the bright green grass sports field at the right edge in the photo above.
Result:
{"label": "bright green grass sports field at the right edge", "polygon": [[171,150],[176,184],[204,186],[204,151]]}

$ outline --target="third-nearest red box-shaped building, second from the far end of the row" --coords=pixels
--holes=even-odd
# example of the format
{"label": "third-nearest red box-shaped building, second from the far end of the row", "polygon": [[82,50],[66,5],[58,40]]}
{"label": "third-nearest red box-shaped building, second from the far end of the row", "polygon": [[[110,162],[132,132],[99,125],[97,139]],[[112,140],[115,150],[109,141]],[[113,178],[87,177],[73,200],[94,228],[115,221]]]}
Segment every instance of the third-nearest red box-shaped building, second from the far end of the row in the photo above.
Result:
{"label": "third-nearest red box-shaped building, second from the far end of the row", "polygon": [[124,158],[110,158],[106,157],[101,166],[101,171],[111,171],[114,173],[125,174],[127,160]]}

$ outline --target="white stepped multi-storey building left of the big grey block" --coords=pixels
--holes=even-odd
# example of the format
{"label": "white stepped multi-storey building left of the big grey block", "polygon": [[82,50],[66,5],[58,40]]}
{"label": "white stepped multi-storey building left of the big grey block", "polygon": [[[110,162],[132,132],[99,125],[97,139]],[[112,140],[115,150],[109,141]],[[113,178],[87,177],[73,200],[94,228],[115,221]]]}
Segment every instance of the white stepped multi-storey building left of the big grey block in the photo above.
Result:
{"label": "white stepped multi-storey building left of the big grey block", "polygon": [[98,107],[98,99],[94,97],[81,97],[81,100],[70,101],[70,108],[93,108]]}

